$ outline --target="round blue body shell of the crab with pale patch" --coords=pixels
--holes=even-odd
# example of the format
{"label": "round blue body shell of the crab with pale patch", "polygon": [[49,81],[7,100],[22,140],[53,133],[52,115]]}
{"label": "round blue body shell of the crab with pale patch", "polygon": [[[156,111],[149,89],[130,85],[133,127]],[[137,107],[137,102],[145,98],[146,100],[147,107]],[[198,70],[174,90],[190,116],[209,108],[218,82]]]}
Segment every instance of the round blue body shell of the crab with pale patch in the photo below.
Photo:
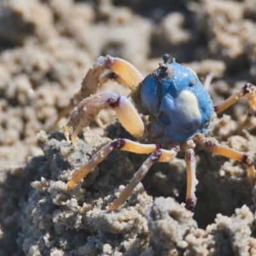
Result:
{"label": "round blue body shell of the crab with pale patch", "polygon": [[167,145],[207,129],[214,113],[211,97],[195,72],[164,63],[141,83],[141,107],[151,115],[149,136]]}

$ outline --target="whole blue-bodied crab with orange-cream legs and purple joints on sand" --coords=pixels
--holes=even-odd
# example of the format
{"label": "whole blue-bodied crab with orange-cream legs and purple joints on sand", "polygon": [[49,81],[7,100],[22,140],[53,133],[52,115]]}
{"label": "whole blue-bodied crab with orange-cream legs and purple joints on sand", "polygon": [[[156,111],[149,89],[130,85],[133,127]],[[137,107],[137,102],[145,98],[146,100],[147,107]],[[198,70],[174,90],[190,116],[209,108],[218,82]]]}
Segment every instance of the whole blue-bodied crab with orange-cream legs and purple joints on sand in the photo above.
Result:
{"label": "whole blue-bodied crab with orange-cream legs and purple joints on sand", "polygon": [[[159,68],[145,79],[131,63],[111,56],[98,58],[90,67],[80,92],[58,118],[59,120],[76,106],[65,126],[65,137],[70,141],[69,132],[72,130],[72,143],[77,148],[76,138],[79,131],[90,125],[101,109],[109,107],[115,111],[120,124],[138,141],[118,138],[109,142],[88,163],[74,172],[68,182],[69,190],[112,150],[150,154],[118,198],[106,209],[113,211],[127,200],[154,162],[172,161],[180,150],[184,150],[187,168],[186,208],[192,210],[196,205],[196,143],[209,152],[235,159],[248,166],[250,186],[255,186],[255,168],[250,154],[223,147],[214,138],[207,136],[212,118],[244,95],[248,97],[250,111],[255,111],[255,86],[246,83],[238,92],[214,106],[196,73],[180,65],[175,59],[172,63],[168,63],[168,60],[168,54],[164,54],[163,63],[159,63]],[[129,99],[111,92],[97,93],[99,87],[108,79],[115,79],[128,86],[132,91]],[[207,83],[211,83],[209,80],[211,79]],[[147,124],[143,123],[141,115],[148,116]]]}

